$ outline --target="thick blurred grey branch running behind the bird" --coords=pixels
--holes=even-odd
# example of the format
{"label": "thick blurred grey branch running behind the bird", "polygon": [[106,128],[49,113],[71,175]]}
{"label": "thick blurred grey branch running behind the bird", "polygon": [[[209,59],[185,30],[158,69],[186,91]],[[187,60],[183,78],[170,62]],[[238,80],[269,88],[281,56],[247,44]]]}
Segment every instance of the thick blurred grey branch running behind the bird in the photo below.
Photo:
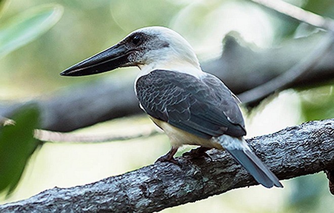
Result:
{"label": "thick blurred grey branch running behind the bird", "polygon": [[[322,39],[323,33],[318,33],[287,40],[279,48],[253,51],[238,44],[232,36],[227,36],[224,39],[222,56],[202,63],[202,68],[223,79],[234,93],[239,94],[281,75],[311,53]],[[312,87],[329,82],[334,78],[333,58],[334,48],[331,48],[317,66],[279,90]],[[33,102],[36,102],[43,112],[41,128],[60,132],[69,132],[101,121],[141,113],[133,89],[133,79],[101,80],[89,86],[71,87],[62,91],[61,95]],[[10,117],[22,104],[0,104],[0,115]]]}

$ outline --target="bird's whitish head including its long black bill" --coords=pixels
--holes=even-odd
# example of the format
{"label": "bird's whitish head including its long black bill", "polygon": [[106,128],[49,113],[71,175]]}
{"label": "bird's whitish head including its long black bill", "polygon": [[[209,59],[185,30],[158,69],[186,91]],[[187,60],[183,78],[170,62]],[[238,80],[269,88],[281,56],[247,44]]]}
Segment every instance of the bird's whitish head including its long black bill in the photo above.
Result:
{"label": "bird's whitish head including its long black bill", "polygon": [[131,32],[116,45],[81,61],[61,75],[82,76],[106,72],[119,67],[186,63],[199,67],[189,43],[177,32],[165,27],[145,27]]}

